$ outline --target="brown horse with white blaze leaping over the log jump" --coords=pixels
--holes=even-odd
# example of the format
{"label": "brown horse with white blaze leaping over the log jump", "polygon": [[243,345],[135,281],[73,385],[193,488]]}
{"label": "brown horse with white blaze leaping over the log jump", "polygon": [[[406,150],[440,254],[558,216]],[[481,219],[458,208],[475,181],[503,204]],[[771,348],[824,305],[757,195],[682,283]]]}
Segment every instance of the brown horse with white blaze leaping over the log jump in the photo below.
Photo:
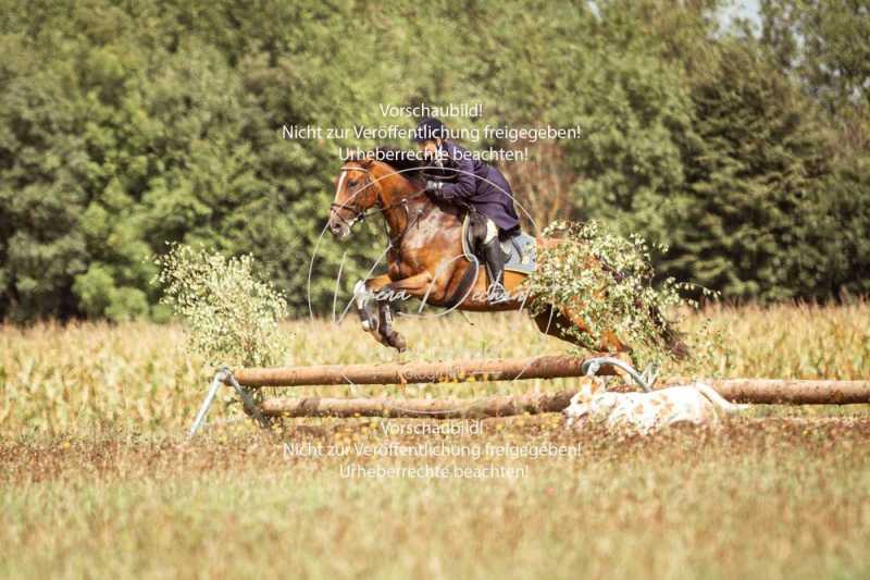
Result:
{"label": "brown horse with white blaze leaping over the log jump", "polygon": [[[347,161],[336,178],[327,223],[330,231],[344,239],[366,212],[383,213],[389,235],[387,272],[357,283],[355,300],[363,328],[380,343],[399,351],[406,343],[393,328],[389,303],[395,297],[414,297],[433,306],[474,311],[518,310],[526,306],[525,297],[518,292],[525,275],[511,271],[505,272],[505,287],[511,300],[488,304],[486,269],[477,269],[462,251],[463,209],[436,203],[426,196],[418,165],[408,158],[390,158],[389,163],[372,157]],[[561,240],[538,237],[536,242],[538,249],[544,249]],[[471,269],[480,273],[469,285],[475,275],[469,273]],[[542,332],[572,343],[576,340],[563,328],[586,330],[582,320],[552,307],[535,316],[535,322]],[[631,348],[612,332],[605,333],[599,348],[631,363]]]}

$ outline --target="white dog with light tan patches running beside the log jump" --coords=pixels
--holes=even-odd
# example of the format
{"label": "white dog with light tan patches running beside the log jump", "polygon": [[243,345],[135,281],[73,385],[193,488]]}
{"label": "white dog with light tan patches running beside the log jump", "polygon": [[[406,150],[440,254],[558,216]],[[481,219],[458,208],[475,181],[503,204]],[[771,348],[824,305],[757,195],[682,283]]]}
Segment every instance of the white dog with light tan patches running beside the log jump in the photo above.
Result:
{"label": "white dog with light tan patches running beside the log jump", "polygon": [[729,403],[704,383],[671,386],[651,393],[610,393],[604,390],[602,382],[584,379],[580,391],[562,412],[568,427],[592,420],[612,430],[646,435],[675,423],[717,424],[717,410],[732,414],[745,408],[748,405]]}

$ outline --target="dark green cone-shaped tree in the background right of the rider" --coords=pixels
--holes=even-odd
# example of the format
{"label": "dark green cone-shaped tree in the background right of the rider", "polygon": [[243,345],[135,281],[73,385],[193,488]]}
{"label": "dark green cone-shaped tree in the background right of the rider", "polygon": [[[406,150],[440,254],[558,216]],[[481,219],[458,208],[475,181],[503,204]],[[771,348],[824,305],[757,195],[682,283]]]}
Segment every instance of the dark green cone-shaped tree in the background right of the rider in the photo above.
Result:
{"label": "dark green cone-shaped tree in the background right of the rider", "polygon": [[732,297],[828,295],[835,224],[818,211],[824,135],[763,54],[736,40],[720,50],[694,81],[696,120],[666,263]]}

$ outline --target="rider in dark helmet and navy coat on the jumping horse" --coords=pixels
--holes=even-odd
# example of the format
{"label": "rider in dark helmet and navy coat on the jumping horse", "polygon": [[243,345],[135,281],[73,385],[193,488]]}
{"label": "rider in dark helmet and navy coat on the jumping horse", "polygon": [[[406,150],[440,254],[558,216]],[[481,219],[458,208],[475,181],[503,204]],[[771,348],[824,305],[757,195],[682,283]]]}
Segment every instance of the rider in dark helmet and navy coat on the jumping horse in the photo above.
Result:
{"label": "rider in dark helmet and navy coat on the jumping horse", "polygon": [[508,239],[520,233],[520,219],[513,209],[513,195],[508,181],[496,168],[447,138],[447,127],[435,118],[423,119],[417,126],[413,140],[427,159],[453,178],[449,182],[430,180],[426,192],[439,201],[471,206],[485,219],[483,258],[492,284],[486,291],[489,304],[510,299],[505,289],[505,254],[499,238]]}

